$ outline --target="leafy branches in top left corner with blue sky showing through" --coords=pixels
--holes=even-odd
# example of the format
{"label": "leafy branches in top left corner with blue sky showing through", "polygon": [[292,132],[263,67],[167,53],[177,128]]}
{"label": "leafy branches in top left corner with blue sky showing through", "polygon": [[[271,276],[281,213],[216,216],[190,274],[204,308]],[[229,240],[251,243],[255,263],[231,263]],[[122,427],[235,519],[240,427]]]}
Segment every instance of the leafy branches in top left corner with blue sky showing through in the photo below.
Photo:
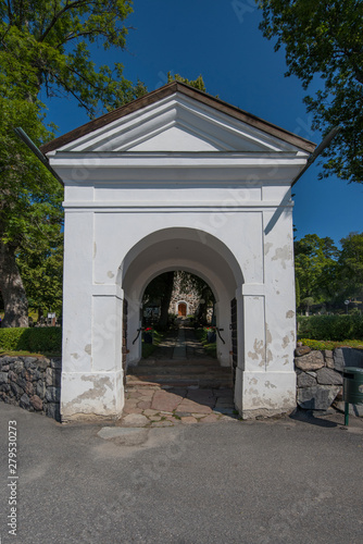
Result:
{"label": "leafy branches in top left corner with blue sky showing through", "polygon": [[72,95],[90,116],[100,104],[121,106],[133,89],[123,65],[97,69],[89,45],[124,49],[132,11],[128,0],[0,0],[1,71],[26,99],[36,100],[40,88],[50,97]]}

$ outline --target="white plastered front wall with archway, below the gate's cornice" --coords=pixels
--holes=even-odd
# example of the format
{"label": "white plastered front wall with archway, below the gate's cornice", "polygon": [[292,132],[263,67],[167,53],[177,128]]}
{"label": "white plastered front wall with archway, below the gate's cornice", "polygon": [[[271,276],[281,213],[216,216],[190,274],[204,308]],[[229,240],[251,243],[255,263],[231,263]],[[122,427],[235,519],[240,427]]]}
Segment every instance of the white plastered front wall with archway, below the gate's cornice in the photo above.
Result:
{"label": "white plastered front wall with archway, below the gate's cornice", "polygon": [[[272,221],[274,227],[265,234]],[[204,230],[190,228],[192,224]],[[142,248],[141,240],[150,235],[152,244]],[[216,242],[228,249],[224,256]],[[136,218],[135,213],[72,211],[67,213],[66,244],[72,250],[65,264],[64,322],[72,326],[65,329],[64,341],[64,361],[68,361],[63,370],[64,419],[74,412],[120,413],[122,300],[126,297],[128,301],[127,358],[135,364],[140,342],[132,342],[140,326],[143,289],[158,274],[176,269],[199,274],[216,296],[217,326],[226,341],[218,339],[217,353],[224,366],[230,364],[230,299],[237,297],[235,399],[240,412],[250,417],[293,406],[291,205],[283,210],[222,213],[220,224],[216,212],[213,217],[186,210],[166,215],[138,212]]]}

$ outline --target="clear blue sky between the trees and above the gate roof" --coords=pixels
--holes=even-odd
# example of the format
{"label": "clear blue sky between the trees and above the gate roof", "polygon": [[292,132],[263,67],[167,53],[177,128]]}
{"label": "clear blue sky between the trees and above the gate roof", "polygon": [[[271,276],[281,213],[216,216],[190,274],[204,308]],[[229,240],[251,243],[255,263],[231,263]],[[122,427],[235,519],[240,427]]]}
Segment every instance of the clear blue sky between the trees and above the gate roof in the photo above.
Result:
{"label": "clear blue sky between the trees and above the gate roof", "polygon": [[[254,0],[135,0],[126,21],[133,27],[127,51],[98,50],[95,60],[122,62],[125,77],[140,78],[149,90],[164,85],[167,72],[189,79],[201,74],[211,95],[320,144],[301,83],[284,77],[284,52],[274,52],[274,42],[263,38],[260,21]],[[88,121],[72,100],[47,104],[59,135]],[[318,172],[314,164],[295,186],[296,235],[329,236],[339,244],[350,232],[363,231],[363,184],[333,176],[318,181]]]}

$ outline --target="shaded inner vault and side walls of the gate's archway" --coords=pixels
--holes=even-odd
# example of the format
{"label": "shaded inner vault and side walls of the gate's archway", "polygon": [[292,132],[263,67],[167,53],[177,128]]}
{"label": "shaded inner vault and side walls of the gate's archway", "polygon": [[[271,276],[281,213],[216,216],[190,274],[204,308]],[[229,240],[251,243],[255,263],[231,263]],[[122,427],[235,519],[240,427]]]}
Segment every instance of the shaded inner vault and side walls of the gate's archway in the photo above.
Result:
{"label": "shaded inner vault and side walls of the gate's archway", "polygon": [[[127,366],[137,364],[141,358],[145,289],[154,277],[174,270],[196,274],[211,287],[215,297],[215,326],[220,332],[216,356],[221,366],[230,367],[234,349],[230,305],[239,297],[242,273],[231,251],[218,238],[186,227],[164,228],[146,236],[130,248],[118,269],[117,282],[128,305]],[[242,331],[241,311],[239,316]],[[236,338],[236,347],[237,343]]]}

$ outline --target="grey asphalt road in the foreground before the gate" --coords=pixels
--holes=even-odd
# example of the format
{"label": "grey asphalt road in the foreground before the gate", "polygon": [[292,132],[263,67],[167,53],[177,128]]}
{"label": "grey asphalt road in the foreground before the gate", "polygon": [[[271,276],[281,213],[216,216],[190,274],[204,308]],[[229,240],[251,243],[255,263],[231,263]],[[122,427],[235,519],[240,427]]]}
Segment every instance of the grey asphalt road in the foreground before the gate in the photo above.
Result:
{"label": "grey asphalt road in the foreground before the gate", "polygon": [[[339,415],[111,437],[114,430],[101,431],[108,423],[61,425],[4,404],[0,416],[1,544],[363,541],[356,418],[349,430]],[[9,421],[17,479],[9,473]]]}

